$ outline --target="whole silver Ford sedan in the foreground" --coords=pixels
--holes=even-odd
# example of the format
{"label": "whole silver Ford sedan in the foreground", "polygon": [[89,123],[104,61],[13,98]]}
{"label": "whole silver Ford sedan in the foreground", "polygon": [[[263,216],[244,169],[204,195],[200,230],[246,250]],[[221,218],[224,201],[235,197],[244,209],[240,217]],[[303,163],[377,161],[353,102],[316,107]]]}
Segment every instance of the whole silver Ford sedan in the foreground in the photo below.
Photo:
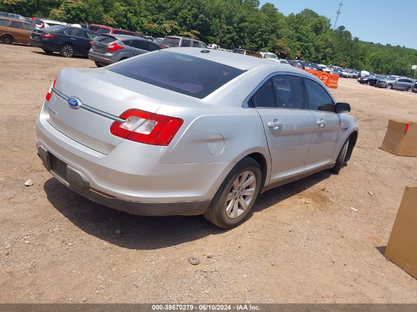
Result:
{"label": "whole silver Ford sedan in the foreground", "polygon": [[200,48],[63,69],[36,120],[45,168],[82,196],[139,215],[230,228],[257,196],[339,172],[358,136],[349,104],[309,73]]}

